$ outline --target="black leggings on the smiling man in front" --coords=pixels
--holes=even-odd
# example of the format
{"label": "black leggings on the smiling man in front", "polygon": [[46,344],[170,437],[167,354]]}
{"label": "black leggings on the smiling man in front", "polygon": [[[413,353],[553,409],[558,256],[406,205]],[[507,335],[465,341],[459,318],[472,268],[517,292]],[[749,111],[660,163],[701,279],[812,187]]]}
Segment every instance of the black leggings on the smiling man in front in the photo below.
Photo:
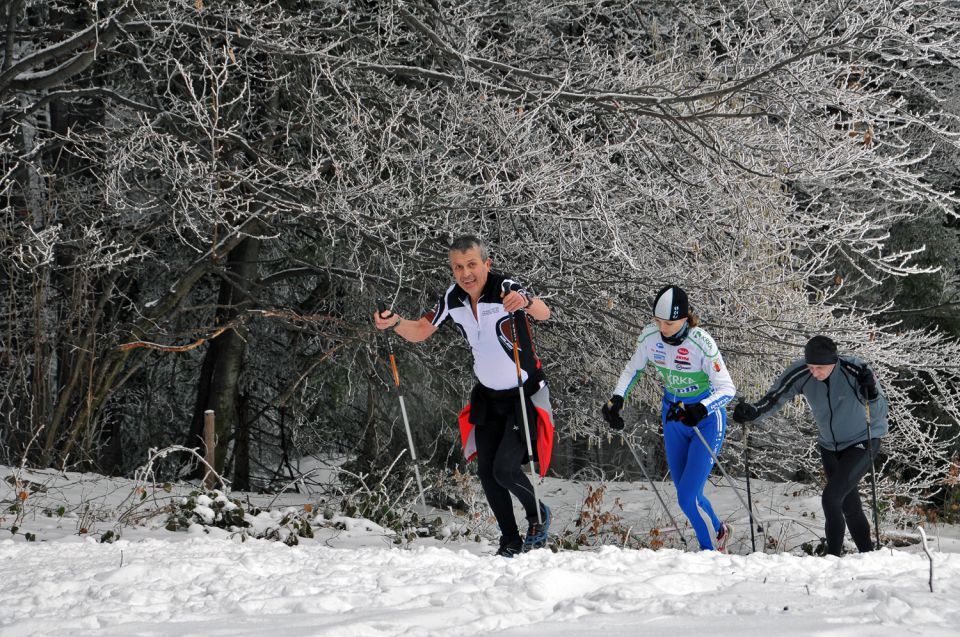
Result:
{"label": "black leggings on the smiling man in front", "polygon": [[477,442],[477,476],[487,502],[504,537],[519,537],[510,494],[517,496],[527,520],[537,520],[533,485],[523,471],[527,442],[523,430],[514,426],[515,401],[491,400],[486,420],[474,430]]}

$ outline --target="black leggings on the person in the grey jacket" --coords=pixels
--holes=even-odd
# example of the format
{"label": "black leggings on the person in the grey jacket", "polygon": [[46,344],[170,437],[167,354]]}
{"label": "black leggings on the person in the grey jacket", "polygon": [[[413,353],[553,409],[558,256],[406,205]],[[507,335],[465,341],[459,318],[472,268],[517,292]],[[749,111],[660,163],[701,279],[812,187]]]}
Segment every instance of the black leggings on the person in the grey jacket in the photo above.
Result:
{"label": "black leggings on the person in the grey jacket", "polygon": [[[873,456],[880,449],[880,439],[873,441]],[[862,446],[861,446],[862,445]],[[844,527],[861,553],[873,550],[870,541],[870,523],[863,513],[858,489],[860,479],[870,470],[867,443],[857,443],[840,451],[820,447],[823,471],[827,474],[827,486],[823,489],[824,532],[827,536],[827,553],[837,557],[843,552]]]}

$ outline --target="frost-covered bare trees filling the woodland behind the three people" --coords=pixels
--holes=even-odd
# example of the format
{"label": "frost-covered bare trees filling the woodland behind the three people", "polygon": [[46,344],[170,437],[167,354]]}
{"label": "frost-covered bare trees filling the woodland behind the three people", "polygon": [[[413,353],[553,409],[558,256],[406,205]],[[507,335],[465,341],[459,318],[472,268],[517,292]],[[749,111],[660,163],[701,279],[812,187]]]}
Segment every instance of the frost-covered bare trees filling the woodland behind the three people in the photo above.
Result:
{"label": "frost-covered bare trees filling the woodland behind the three people", "polygon": [[[812,333],[874,361],[894,405],[885,495],[920,503],[956,462],[960,346],[891,320],[882,292],[936,269],[892,230],[956,228],[953,185],[925,170],[956,157],[937,79],[960,50],[952,3],[5,10],[8,458],[123,470],[194,446],[214,408],[241,484],[293,445],[389,462],[404,441],[374,299],[426,308],[470,231],[555,309],[539,331],[562,471],[610,459],[581,441],[665,282],[747,396]],[[438,464],[459,458],[462,347],[399,352]],[[761,468],[811,466],[806,416],[778,422]]]}

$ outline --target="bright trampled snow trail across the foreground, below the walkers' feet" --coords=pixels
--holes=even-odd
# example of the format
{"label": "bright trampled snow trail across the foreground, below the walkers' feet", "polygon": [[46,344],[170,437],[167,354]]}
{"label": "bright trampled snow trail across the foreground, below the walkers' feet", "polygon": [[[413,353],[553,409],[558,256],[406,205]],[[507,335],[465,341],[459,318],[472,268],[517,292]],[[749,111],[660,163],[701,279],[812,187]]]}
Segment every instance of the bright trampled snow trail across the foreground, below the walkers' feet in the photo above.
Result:
{"label": "bright trampled snow trail across the foreground, below the walkers' feet", "polygon": [[935,559],[931,594],[926,557],[889,550],[506,560],[211,537],[4,540],[0,635],[957,635],[960,554]]}

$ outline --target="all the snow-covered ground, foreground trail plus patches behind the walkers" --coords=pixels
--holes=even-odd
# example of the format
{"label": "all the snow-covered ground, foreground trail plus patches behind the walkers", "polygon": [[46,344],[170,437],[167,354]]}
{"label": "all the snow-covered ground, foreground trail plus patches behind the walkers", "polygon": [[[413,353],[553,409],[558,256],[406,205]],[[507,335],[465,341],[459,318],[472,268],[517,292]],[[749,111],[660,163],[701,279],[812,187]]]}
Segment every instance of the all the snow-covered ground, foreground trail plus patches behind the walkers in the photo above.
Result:
{"label": "all the snow-covered ground, foreground trail plus patches behind the walkers", "polygon": [[[754,485],[763,510],[782,518],[765,523],[778,544],[767,553],[750,553],[744,512],[718,482],[708,495],[736,525],[733,550],[742,554],[605,546],[508,560],[490,555],[487,542],[396,544],[374,524],[331,524],[322,515],[316,537],[295,547],[239,542],[199,526],[170,532],[161,518],[149,517],[123,527],[122,539],[100,543],[105,530],[117,528],[117,515],[134,517],[129,496],[136,486],[79,474],[31,474],[38,490],[24,503],[21,529],[10,535],[7,507],[17,494],[9,475],[0,468],[3,637],[960,634],[955,527],[929,530],[931,593],[929,562],[916,544],[842,559],[802,555],[795,546],[813,539],[821,522],[810,522],[816,494],[798,485]],[[169,497],[181,488],[189,487],[175,485]],[[546,481],[558,530],[573,525],[586,489]],[[669,483],[663,492],[669,501]],[[290,494],[274,504],[302,508],[310,500]],[[639,483],[609,485],[605,502],[635,530],[662,516]],[[458,524],[455,516],[444,518]],[[27,542],[24,532],[36,541]]]}

